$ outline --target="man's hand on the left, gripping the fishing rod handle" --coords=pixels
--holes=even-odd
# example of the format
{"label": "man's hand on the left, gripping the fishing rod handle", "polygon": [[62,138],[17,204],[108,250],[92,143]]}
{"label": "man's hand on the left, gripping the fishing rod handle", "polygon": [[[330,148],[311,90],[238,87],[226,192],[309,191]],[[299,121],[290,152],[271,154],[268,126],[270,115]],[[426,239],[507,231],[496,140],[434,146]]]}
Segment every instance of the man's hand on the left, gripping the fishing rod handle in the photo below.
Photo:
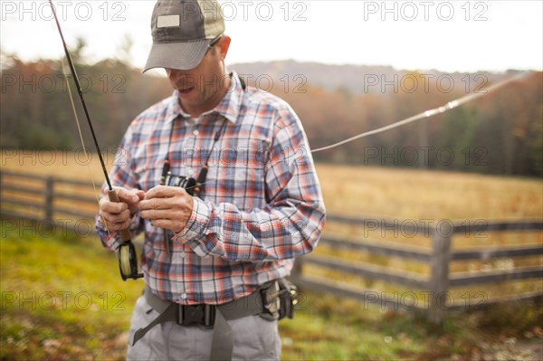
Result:
{"label": "man's hand on the left, gripping the fishing rod handle", "polygon": [[139,189],[124,189],[114,187],[119,196],[119,203],[111,202],[105,195],[100,199],[100,216],[110,231],[121,231],[129,228],[130,218],[138,212],[138,204],[145,196]]}

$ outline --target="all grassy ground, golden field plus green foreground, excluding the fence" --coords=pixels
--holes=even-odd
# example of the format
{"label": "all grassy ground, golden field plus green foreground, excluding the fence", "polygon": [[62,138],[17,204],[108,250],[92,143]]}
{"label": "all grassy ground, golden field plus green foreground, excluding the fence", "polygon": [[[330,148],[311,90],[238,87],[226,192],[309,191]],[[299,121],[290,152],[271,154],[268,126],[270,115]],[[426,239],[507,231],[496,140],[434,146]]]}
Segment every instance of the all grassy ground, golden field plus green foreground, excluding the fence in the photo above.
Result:
{"label": "all grassy ground, golden field plus green foreground, excluding the fence", "polygon": [[[96,156],[52,154],[3,153],[2,169],[91,178],[101,184]],[[110,165],[113,157],[106,160]],[[540,179],[366,166],[319,165],[318,172],[330,214],[413,220],[543,218]],[[39,234],[32,228],[13,230],[6,224],[3,221],[0,243],[0,359],[122,359],[141,281],[120,280],[115,256],[94,237],[81,239],[58,231]],[[326,232],[354,235],[359,230],[327,223]],[[460,238],[453,247],[526,240],[522,237]],[[530,237],[529,242],[543,244],[541,233]],[[427,245],[427,240],[396,241]],[[335,251],[318,247],[317,252]],[[427,272],[417,264],[394,259],[340,255]],[[543,263],[541,257],[523,262]],[[457,262],[452,271],[489,267],[510,267],[510,262]],[[487,291],[543,289],[540,283],[496,285]],[[436,328],[415,313],[308,292],[296,318],[281,322],[281,337],[285,360],[539,360],[543,359],[543,349],[538,348],[543,339],[543,309],[540,303],[489,307],[452,315],[442,328]]]}

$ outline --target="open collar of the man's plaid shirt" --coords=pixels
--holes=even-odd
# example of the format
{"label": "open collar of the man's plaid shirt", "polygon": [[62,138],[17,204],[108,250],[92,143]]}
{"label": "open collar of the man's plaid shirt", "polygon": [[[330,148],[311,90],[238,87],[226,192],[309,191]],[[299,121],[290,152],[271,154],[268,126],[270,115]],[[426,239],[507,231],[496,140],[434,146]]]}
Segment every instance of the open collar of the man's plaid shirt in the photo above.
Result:
{"label": "open collar of the man's plaid shirt", "polygon": [[[235,124],[242,107],[244,90],[242,82],[235,71],[231,72],[230,77],[232,78],[230,88],[226,91],[223,100],[221,100],[214,109],[208,110],[205,113],[202,113],[202,115],[216,112]],[[177,90],[174,90],[174,93],[170,97],[168,108],[166,117],[167,122],[173,121],[178,117],[190,118],[190,114],[187,114],[179,104]]]}

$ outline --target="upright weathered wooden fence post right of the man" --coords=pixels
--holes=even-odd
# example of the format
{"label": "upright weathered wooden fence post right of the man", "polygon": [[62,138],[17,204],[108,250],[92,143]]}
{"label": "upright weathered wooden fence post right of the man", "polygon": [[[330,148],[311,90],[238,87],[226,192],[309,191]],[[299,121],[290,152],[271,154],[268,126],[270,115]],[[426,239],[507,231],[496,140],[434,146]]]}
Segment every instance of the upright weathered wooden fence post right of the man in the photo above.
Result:
{"label": "upright weathered wooden fence post right of the man", "polygon": [[428,318],[435,324],[443,323],[449,289],[449,262],[451,261],[452,232],[444,234],[435,228],[432,236],[432,260],[430,274],[430,304]]}

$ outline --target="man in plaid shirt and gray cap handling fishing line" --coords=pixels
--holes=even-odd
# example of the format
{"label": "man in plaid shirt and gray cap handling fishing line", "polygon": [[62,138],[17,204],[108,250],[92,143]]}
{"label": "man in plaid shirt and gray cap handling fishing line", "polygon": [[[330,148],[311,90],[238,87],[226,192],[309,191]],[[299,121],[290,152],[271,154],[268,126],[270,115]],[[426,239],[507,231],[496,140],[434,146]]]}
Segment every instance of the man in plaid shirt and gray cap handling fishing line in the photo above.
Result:
{"label": "man in plaid shirt and gray cap handling fishing line", "polygon": [[151,28],[144,71],[166,69],[174,93],[129,126],[120,202],[97,218],[112,250],[117,231],[145,233],[128,358],[279,359],[279,280],[325,220],[300,119],[226,70],[215,1],[160,0]]}

